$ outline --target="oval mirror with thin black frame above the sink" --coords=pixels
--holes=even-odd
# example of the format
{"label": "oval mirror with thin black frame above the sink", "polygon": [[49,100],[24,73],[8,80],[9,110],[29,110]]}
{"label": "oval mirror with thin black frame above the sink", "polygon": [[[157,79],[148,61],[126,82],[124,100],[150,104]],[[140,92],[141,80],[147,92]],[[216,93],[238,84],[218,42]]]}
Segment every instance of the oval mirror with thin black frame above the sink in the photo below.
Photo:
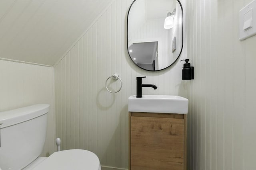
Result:
{"label": "oval mirror with thin black frame above the sink", "polygon": [[127,49],[144,70],[172,65],[183,47],[183,9],[179,0],[134,0],[127,17]]}

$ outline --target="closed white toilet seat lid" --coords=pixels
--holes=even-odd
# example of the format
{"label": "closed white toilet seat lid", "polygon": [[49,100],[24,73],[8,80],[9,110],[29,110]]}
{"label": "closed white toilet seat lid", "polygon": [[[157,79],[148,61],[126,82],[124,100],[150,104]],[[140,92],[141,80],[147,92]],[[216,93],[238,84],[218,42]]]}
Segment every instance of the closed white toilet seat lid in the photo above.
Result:
{"label": "closed white toilet seat lid", "polygon": [[93,152],[70,149],[54,152],[33,170],[100,170],[100,160]]}

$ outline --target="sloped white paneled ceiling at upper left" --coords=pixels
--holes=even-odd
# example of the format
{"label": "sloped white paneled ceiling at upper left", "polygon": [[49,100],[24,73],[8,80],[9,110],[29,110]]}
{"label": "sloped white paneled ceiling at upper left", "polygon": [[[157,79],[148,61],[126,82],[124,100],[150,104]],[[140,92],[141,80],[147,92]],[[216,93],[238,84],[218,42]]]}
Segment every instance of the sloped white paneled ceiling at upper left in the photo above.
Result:
{"label": "sloped white paneled ceiling at upper left", "polygon": [[0,0],[0,58],[53,66],[112,0]]}

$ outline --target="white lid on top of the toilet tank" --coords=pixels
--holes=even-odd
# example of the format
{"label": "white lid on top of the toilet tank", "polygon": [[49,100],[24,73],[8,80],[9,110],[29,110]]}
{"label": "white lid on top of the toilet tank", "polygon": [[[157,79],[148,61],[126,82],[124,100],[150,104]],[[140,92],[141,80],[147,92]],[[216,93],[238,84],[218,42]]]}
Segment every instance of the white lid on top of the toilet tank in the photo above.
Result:
{"label": "white lid on top of the toilet tank", "polygon": [[34,119],[48,113],[49,104],[36,104],[32,106],[22,107],[0,112],[0,128],[8,127],[30,119]]}

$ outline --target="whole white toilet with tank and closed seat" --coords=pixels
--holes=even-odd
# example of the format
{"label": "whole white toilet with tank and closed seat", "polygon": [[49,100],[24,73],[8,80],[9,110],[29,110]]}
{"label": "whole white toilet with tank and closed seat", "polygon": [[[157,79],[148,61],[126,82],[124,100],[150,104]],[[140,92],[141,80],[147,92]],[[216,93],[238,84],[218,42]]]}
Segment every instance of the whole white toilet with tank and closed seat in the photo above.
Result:
{"label": "whole white toilet with tank and closed seat", "polygon": [[44,147],[49,107],[37,104],[0,112],[0,169],[100,170],[100,160],[88,150],[62,150],[48,158],[38,157]]}

